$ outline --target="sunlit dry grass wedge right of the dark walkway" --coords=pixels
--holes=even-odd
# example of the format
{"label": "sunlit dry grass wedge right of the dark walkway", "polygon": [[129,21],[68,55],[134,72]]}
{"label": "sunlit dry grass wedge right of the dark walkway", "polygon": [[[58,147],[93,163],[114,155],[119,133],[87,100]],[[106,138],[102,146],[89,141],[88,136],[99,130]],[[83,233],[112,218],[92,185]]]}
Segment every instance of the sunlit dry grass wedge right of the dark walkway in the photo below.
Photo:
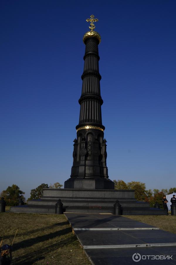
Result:
{"label": "sunlit dry grass wedge right of the dark walkway", "polygon": [[176,234],[176,216],[174,215],[124,215],[124,217]]}

